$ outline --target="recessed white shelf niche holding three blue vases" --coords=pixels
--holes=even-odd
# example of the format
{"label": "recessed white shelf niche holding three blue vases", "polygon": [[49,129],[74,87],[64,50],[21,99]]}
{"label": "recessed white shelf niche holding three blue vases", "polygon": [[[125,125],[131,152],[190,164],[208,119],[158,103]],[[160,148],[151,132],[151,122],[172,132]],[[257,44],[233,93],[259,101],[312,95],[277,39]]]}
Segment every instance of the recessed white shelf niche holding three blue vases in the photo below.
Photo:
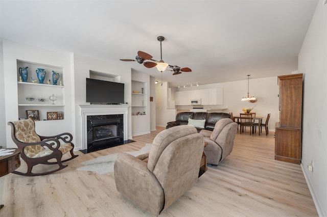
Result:
{"label": "recessed white shelf niche holding three blue vases", "polygon": [[[17,60],[18,117],[28,118],[37,111],[37,120],[63,119],[63,69],[41,63]],[[48,117],[51,113],[52,117]],[[56,118],[56,117],[57,118]]]}

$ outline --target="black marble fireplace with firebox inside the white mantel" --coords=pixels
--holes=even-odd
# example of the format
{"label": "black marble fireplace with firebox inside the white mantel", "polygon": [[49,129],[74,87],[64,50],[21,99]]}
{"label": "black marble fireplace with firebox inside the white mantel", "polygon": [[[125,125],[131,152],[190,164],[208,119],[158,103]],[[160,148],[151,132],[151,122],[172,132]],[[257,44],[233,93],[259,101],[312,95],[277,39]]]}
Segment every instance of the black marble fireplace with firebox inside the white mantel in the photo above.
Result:
{"label": "black marble fireplace with firebox inside the white mantel", "polygon": [[110,148],[124,142],[124,115],[87,116],[87,151]]}

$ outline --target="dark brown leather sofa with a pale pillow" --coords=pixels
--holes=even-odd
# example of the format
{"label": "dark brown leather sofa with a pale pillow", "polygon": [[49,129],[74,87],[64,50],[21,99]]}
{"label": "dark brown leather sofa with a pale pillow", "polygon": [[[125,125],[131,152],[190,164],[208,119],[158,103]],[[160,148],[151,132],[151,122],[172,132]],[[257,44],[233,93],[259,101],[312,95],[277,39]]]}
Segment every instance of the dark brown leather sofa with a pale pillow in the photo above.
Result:
{"label": "dark brown leather sofa with a pale pillow", "polygon": [[189,118],[195,120],[205,120],[204,128],[197,128],[198,132],[200,132],[202,129],[213,131],[217,121],[223,118],[231,118],[231,116],[228,113],[222,112],[180,112],[177,113],[175,121],[167,123],[166,129],[178,125],[187,125],[189,123]]}

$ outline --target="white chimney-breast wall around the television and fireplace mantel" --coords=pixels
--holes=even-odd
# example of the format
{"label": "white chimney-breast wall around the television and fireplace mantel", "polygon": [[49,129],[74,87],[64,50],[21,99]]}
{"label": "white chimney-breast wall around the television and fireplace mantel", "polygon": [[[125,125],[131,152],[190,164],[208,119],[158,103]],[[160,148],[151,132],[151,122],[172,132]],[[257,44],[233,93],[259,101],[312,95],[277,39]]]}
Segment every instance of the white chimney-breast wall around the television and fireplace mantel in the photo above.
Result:
{"label": "white chimney-breast wall around the television and fireplace mantel", "polygon": [[[74,63],[74,93],[75,93],[75,127],[76,127],[76,149],[82,148],[82,123],[81,117],[78,113],[78,104],[86,103],[86,77],[89,78],[89,71],[101,72],[104,76],[120,76],[120,80],[116,82],[125,84],[125,102],[131,104],[131,68],[122,66],[116,63],[94,59],[78,54],[73,55]],[[132,125],[131,125],[131,108],[128,109],[128,139],[132,139]]]}

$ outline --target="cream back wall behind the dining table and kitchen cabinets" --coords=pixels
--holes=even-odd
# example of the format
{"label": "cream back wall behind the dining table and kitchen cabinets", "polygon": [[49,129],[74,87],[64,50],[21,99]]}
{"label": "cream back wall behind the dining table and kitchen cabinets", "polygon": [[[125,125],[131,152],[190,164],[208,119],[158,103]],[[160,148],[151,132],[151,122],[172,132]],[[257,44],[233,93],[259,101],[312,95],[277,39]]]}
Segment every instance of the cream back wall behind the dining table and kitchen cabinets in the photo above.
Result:
{"label": "cream back wall behind the dining table and kitchen cabinets", "polygon": [[[290,74],[291,72],[285,72],[285,74]],[[251,78],[249,81],[249,92],[250,95],[254,95],[258,99],[256,103],[250,103],[248,101],[241,101],[243,96],[247,96],[247,79],[246,75],[244,80],[239,80],[236,82],[226,82],[217,83],[210,85],[199,85],[198,87],[193,86],[192,88],[175,88],[173,91],[187,91],[187,90],[201,90],[209,88],[223,88],[223,105],[204,105],[203,108],[225,108],[227,110],[222,110],[221,112],[229,113],[232,112],[233,115],[240,115],[243,113],[242,107],[252,108],[252,112],[256,113],[256,116],[265,117],[266,120],[268,113],[271,114],[268,128],[269,131],[274,131],[275,122],[279,121],[279,111],[278,111],[278,85],[277,77],[266,77],[266,78]],[[189,110],[192,106],[177,106],[178,109]]]}

